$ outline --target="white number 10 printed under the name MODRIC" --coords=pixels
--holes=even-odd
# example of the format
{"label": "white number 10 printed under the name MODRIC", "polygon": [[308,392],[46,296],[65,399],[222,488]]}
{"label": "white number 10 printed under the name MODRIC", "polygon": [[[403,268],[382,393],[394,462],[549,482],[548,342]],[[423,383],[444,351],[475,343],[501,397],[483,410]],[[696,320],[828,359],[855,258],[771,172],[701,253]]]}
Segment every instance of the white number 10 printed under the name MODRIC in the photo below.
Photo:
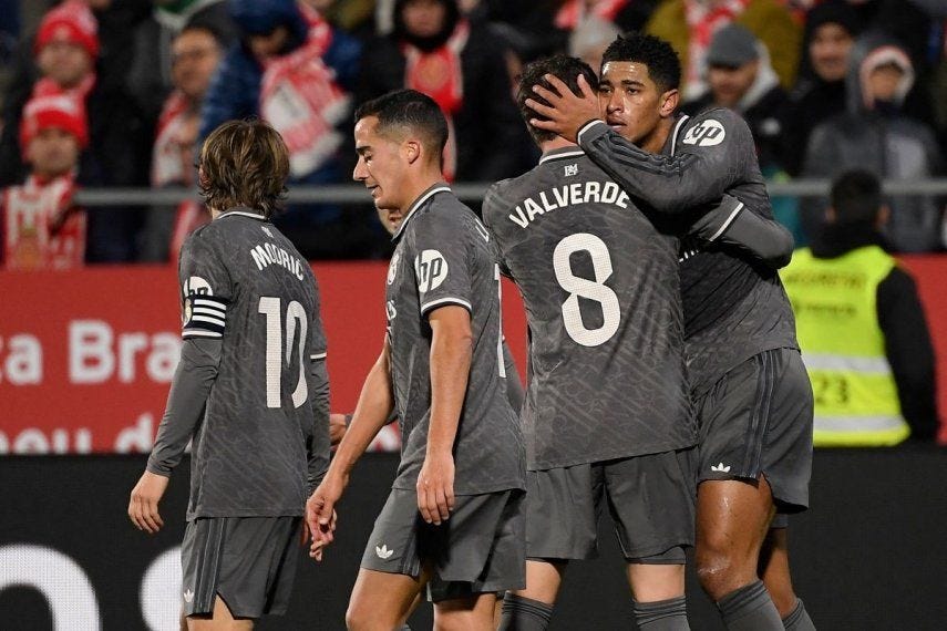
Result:
{"label": "white number 10 printed under the name MODRIC", "polygon": [[[260,297],[259,313],[266,316],[266,406],[279,407],[282,403],[282,310],[279,298]],[[296,339],[297,322],[299,323],[299,343]],[[286,308],[286,363],[290,363],[292,351],[299,349],[299,381],[292,391],[292,406],[299,407],[309,397],[306,385],[306,331],[309,322],[306,309],[296,300]]]}

